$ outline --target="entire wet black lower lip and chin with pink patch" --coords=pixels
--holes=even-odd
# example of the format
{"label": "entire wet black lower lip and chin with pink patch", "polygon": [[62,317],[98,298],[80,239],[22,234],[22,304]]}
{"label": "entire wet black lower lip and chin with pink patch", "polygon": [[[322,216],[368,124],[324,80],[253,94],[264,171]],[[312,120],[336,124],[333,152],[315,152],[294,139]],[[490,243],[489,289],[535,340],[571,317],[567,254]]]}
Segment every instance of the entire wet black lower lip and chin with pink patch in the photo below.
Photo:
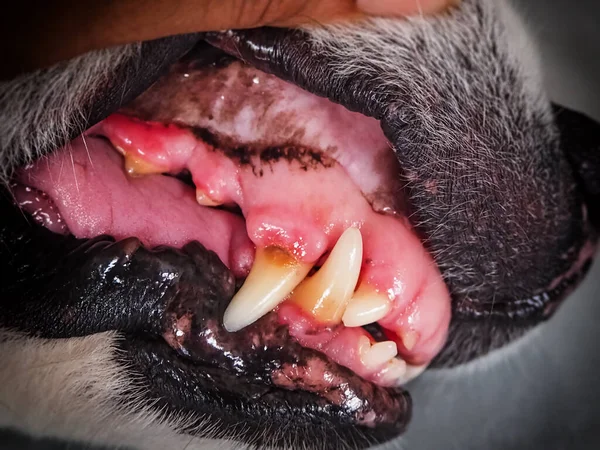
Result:
{"label": "entire wet black lower lip and chin with pink patch", "polygon": [[210,417],[246,443],[318,437],[363,448],[405,430],[407,392],[301,347],[275,314],[227,333],[221,319],[234,278],[199,243],[148,249],[136,238],[55,234],[4,190],[0,211],[0,272],[12,280],[0,284],[0,326],[51,339],[120,331],[123,362],[146,377],[149,401],[199,422]]}

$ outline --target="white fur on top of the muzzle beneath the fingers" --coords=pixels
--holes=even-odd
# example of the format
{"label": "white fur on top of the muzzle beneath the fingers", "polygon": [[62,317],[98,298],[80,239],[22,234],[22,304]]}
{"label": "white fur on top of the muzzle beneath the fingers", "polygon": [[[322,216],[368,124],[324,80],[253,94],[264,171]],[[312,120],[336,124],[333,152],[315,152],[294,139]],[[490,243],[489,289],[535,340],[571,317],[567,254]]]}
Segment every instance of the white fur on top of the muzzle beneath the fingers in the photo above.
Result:
{"label": "white fur on top of the muzzle beneath the fingers", "polygon": [[[481,17],[475,12],[477,7],[483,11]],[[452,16],[450,20],[447,15]],[[484,21],[483,25],[476,23],[479,19]],[[480,30],[485,34],[478,34]],[[543,77],[539,51],[507,0],[462,0],[460,8],[446,15],[417,16],[403,22],[371,19],[353,25],[309,27],[305,31],[323,52],[336,54],[340,63],[332,76],[360,74],[372,66],[385,67],[388,85],[406,86],[411,81],[410,92],[420,92],[416,86],[421,85],[423,95],[428,85],[436,84],[434,77],[441,73],[466,82],[467,72],[456,65],[455,50],[479,47],[480,53],[471,53],[469,58],[477,65],[479,74],[490,71],[481,81],[501,81],[502,76],[496,71],[509,65],[520,72],[522,84],[514,87],[525,91],[527,103],[534,109],[549,110],[540,83]],[[423,55],[419,55],[416,46],[421,38],[427,42],[428,53],[426,58],[419,59]],[[480,46],[476,45],[478,42]],[[500,48],[498,59],[486,53],[491,42]]]}

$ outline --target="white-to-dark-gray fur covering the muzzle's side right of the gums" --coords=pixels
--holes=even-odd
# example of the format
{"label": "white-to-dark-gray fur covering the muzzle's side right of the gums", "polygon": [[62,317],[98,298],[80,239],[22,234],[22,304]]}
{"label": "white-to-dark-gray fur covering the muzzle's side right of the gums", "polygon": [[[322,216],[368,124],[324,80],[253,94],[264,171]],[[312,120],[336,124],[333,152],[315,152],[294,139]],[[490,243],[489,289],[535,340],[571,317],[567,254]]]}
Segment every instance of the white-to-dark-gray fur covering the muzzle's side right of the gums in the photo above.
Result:
{"label": "white-to-dark-gray fur covering the muzzle's side right of the gums", "polygon": [[[570,218],[556,216],[571,209],[573,187],[557,176],[569,169],[538,58],[507,3],[466,0],[451,17],[311,35],[330,55],[332,77],[372,79],[376,92],[397,96],[393,108],[407,122],[397,154],[414,188],[413,223],[453,294],[492,307],[494,294],[504,302],[544,288],[543,276],[531,286],[507,268],[539,261],[540,237],[547,245],[568,234]],[[508,284],[513,290],[500,292]]]}

